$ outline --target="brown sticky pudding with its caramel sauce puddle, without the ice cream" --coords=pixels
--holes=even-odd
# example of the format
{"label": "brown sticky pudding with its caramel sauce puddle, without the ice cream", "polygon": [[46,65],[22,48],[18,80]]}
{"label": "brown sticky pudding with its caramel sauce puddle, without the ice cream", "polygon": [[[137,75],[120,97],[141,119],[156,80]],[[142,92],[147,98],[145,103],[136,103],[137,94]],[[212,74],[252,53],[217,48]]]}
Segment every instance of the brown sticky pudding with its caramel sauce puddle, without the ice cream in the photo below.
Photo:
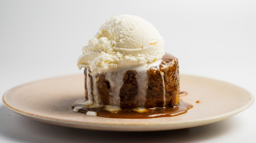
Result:
{"label": "brown sticky pudding with its caramel sauce puddle, without the ice cream", "polygon": [[[193,107],[179,100],[180,76],[177,58],[165,54],[149,65],[98,73],[84,70],[85,99],[74,111],[91,116],[122,119],[171,117]],[[88,114],[89,115],[89,114]]]}

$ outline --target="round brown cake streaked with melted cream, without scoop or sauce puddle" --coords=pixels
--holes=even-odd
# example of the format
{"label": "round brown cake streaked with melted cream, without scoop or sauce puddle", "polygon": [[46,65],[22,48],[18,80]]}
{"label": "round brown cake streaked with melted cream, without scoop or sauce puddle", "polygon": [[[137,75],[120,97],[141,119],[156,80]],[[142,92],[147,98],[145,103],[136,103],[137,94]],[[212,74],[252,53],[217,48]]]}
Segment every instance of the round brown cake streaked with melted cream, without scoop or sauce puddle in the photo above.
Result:
{"label": "round brown cake streaked with melted cream, without scoop or sauce puddle", "polygon": [[146,70],[117,70],[92,75],[85,69],[84,74],[85,99],[96,105],[154,108],[179,104],[179,65],[177,58],[169,54],[163,56],[158,66]]}

